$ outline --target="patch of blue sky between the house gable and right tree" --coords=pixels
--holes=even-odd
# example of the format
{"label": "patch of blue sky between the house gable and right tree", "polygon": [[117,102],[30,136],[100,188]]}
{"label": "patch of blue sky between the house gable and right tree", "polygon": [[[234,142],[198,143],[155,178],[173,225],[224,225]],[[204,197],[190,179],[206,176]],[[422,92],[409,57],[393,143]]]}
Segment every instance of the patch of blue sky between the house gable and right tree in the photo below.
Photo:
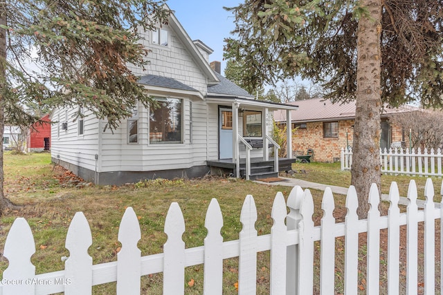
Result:
{"label": "patch of blue sky between the house gable and right tree", "polygon": [[230,37],[235,28],[231,12],[223,7],[234,7],[241,0],[168,0],[168,6],[174,10],[181,26],[192,40],[199,39],[214,52],[209,61],[221,61],[221,73],[226,62],[223,61],[224,38]]}

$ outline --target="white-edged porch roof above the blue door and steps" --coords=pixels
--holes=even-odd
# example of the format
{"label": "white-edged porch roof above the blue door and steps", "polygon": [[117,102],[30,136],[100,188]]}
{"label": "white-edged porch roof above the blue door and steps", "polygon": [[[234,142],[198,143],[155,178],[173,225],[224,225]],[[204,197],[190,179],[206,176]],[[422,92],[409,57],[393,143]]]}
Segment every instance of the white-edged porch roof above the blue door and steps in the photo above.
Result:
{"label": "white-edged porch roof above the blue door and steps", "polygon": [[275,110],[291,110],[295,111],[298,106],[294,104],[278,104],[277,102],[265,102],[263,100],[247,99],[242,97],[228,97],[228,96],[217,96],[208,95],[206,96],[206,102],[208,104],[238,104],[241,108],[242,106],[249,106],[255,108],[269,108],[271,111]]}

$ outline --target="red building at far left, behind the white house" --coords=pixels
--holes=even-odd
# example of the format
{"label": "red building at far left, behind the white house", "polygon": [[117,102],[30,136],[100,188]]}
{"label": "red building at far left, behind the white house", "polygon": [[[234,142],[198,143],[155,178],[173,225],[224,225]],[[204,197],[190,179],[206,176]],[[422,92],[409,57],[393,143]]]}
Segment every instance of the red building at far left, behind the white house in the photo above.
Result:
{"label": "red building at far left, behind the white house", "polygon": [[44,123],[35,123],[28,131],[26,144],[28,152],[31,151],[49,151],[51,149],[51,120],[49,114],[40,120]]}

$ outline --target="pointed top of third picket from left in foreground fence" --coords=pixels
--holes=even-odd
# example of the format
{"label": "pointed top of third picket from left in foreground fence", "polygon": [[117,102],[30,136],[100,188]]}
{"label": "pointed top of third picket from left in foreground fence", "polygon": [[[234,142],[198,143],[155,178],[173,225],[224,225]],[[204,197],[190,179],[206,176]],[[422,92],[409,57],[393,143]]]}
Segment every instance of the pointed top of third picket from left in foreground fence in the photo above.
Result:
{"label": "pointed top of third picket from left in foreground fence", "polygon": [[118,241],[122,243],[122,251],[125,245],[137,245],[140,239],[141,230],[136,213],[132,207],[127,207],[118,228]]}

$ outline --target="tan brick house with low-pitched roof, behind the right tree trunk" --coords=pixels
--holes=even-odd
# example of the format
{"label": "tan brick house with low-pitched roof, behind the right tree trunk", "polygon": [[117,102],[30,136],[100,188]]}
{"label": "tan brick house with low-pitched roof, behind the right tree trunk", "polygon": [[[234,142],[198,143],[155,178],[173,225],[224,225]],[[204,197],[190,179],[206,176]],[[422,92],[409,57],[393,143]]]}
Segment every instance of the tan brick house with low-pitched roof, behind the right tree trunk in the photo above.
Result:
{"label": "tan brick house with low-pitched roof, behind the right tree trunk", "polygon": [[[307,99],[292,102],[298,106],[291,111],[292,128],[296,128],[292,139],[294,155],[307,154],[308,149],[314,151],[312,160],[318,162],[337,162],[340,160],[341,148],[352,146],[355,120],[355,102],[332,104],[329,100]],[[408,139],[399,126],[392,126],[389,118],[396,113],[417,111],[413,106],[385,108],[381,114],[382,149],[392,144],[400,144]],[[286,113],[275,111],[274,120],[284,126]]]}

